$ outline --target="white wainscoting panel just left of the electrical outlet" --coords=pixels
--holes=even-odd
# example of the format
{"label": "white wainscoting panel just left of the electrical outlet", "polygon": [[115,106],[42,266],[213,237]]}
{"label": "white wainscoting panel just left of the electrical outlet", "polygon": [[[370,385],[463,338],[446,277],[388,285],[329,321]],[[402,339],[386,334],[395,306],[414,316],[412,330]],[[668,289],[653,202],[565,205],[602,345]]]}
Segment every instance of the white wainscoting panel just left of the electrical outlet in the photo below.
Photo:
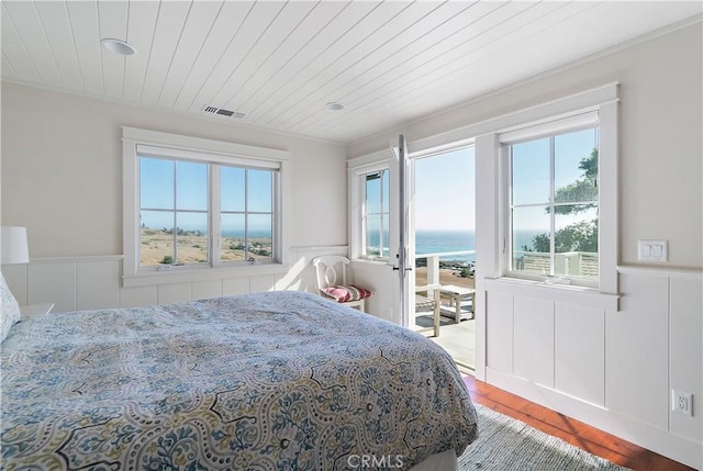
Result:
{"label": "white wainscoting panel just left of the electrical outlet", "polygon": [[605,314],[605,406],[669,426],[669,280],[622,274],[621,311]]}

